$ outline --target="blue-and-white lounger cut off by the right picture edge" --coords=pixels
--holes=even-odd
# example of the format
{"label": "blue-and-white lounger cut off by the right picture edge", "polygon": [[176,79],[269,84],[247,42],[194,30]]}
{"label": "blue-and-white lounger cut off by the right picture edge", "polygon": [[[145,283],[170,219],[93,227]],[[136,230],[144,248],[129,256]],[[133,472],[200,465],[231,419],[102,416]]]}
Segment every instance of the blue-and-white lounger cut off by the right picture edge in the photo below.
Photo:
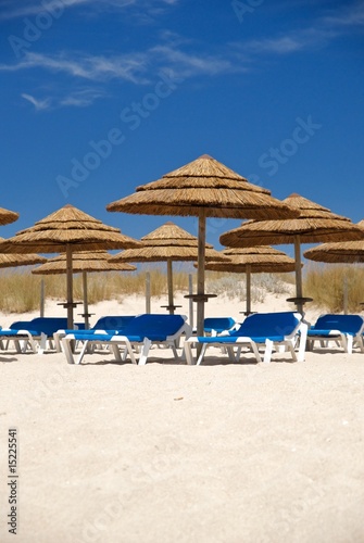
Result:
{"label": "blue-and-white lounger cut off by the right picture edge", "polygon": [[307,350],[313,350],[315,341],[321,346],[335,341],[346,353],[351,354],[353,345],[357,344],[364,352],[363,342],[364,319],[360,315],[336,315],[327,314],[317,318],[316,323],[307,331]]}

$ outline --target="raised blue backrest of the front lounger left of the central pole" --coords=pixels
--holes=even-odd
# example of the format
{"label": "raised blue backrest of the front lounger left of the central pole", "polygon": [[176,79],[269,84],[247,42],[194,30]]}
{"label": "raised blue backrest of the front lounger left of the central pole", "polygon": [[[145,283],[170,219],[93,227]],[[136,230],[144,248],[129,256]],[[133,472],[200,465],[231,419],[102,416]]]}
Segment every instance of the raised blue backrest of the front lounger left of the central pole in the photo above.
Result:
{"label": "raised blue backrest of the front lounger left of the central pole", "polygon": [[145,314],[138,315],[125,327],[125,336],[141,336],[154,339],[173,336],[183,326],[185,319],[180,315]]}

